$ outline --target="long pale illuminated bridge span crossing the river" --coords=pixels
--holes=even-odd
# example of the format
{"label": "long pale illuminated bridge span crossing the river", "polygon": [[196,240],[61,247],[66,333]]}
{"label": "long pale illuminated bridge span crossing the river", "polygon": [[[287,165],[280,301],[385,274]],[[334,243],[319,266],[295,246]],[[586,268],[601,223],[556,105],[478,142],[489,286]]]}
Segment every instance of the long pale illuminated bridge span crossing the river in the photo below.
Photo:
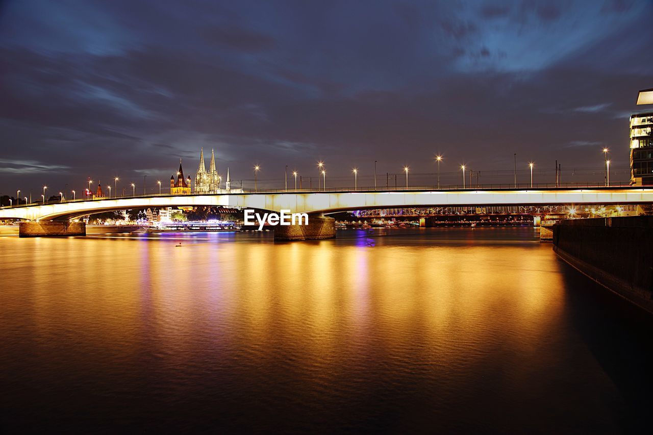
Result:
{"label": "long pale illuminated bridge span crossing the river", "polygon": [[[503,189],[404,189],[366,191],[270,191],[218,195],[143,195],[25,204],[0,208],[0,219],[66,223],[80,216],[133,208],[222,206],[317,217],[345,210],[432,206],[547,206],[652,204],[653,187],[549,187]],[[325,219],[320,217],[319,219]],[[318,219],[318,220],[319,220]],[[43,225],[41,225],[43,226]],[[67,233],[66,233],[67,234]],[[43,234],[39,234],[43,235]],[[60,234],[56,234],[60,235]]]}

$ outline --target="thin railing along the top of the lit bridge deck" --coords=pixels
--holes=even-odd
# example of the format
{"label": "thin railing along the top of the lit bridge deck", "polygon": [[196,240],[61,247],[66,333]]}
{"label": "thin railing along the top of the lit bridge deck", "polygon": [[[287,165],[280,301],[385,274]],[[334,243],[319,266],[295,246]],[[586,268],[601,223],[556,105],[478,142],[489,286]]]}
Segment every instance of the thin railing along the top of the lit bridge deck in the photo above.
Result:
{"label": "thin railing along the top of the lit bridge deck", "polygon": [[[397,186],[346,186],[346,187],[328,187],[326,189],[233,189],[228,192],[226,189],[222,189],[220,193],[191,193],[191,195],[251,195],[251,194],[262,194],[262,193],[343,193],[343,192],[400,192],[400,191],[457,191],[457,190],[513,190],[513,189],[614,189],[615,187],[633,187],[628,183],[611,183],[609,186],[606,186],[604,182],[573,182],[573,183],[492,183],[492,184],[441,184],[436,185],[397,185]],[[183,195],[171,195],[169,192],[162,193],[146,193],[146,194],[136,194],[136,195],[119,195],[112,197],[82,197],[76,199],[62,199],[58,201],[34,201],[25,204],[12,204],[11,206],[2,206],[0,208],[18,208],[25,206],[35,206],[41,204],[60,204],[62,202],[85,202],[85,201],[104,201],[106,199],[135,199],[135,198],[153,198],[153,197],[176,197]]]}

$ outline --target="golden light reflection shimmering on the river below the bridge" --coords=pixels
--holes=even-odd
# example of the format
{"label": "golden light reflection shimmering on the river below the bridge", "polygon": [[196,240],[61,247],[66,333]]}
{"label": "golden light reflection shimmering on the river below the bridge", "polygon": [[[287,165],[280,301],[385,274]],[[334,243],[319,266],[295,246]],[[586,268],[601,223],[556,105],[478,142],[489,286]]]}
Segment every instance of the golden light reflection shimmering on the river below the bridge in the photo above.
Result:
{"label": "golden light reflection shimmering on the river below the bridge", "polygon": [[69,381],[72,364],[106,389],[150,374],[229,397],[270,383],[327,408],[408,388],[453,409],[500,379],[486,388],[518,403],[549,388],[550,349],[581,339],[550,245],[515,231],[0,238],[0,340],[23,355],[5,364],[43,357]]}

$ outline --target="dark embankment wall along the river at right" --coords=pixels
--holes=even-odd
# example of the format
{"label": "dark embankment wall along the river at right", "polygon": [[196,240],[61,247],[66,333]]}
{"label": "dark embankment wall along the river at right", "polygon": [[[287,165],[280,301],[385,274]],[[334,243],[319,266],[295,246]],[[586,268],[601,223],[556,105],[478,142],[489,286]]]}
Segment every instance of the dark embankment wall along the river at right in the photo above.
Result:
{"label": "dark embankment wall along the river at right", "polygon": [[569,219],[553,249],[597,283],[653,313],[653,216]]}

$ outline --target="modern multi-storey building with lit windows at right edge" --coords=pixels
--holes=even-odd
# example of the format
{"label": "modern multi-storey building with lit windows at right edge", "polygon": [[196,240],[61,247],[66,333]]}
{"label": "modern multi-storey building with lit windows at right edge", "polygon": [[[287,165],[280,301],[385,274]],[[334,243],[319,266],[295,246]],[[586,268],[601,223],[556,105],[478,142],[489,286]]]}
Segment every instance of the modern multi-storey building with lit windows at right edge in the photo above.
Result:
{"label": "modern multi-storey building with lit windows at right edge", "polygon": [[[637,105],[653,104],[653,89],[639,91]],[[653,184],[653,108],[630,116],[630,184]]]}

